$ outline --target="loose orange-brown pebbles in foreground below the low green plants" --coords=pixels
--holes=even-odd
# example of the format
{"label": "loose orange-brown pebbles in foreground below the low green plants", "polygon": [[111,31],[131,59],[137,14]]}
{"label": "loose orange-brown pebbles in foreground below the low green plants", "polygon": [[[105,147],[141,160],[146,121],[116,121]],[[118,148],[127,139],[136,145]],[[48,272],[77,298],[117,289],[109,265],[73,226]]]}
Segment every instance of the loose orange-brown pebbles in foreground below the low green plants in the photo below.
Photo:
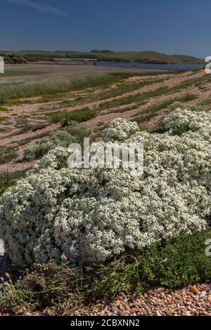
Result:
{"label": "loose orange-brown pebbles in foreground below the low green plants", "polygon": [[211,316],[211,284],[169,290],[156,288],[137,296],[118,296],[113,303],[97,301],[73,316]]}

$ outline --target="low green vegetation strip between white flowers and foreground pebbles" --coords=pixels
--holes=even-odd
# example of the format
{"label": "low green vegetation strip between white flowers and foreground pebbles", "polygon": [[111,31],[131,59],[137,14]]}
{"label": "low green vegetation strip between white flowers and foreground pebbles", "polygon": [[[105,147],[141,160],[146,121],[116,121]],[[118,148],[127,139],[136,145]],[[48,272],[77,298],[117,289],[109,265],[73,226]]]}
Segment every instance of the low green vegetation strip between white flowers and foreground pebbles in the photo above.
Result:
{"label": "low green vegetation strip between white flowers and foreground pebbles", "polygon": [[115,298],[120,292],[140,293],[153,286],[175,289],[211,279],[211,258],[205,241],[211,231],[174,237],[143,251],[130,251],[106,264],[72,269],[60,263],[27,271],[18,284],[8,283],[0,296],[3,312],[51,308],[58,315],[79,304]]}

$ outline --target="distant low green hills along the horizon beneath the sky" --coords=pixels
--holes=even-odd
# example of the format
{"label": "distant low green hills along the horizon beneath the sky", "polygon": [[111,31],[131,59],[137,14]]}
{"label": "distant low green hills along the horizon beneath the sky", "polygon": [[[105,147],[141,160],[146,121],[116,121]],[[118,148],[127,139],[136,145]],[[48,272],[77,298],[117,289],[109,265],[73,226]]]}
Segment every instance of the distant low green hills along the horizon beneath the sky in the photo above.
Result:
{"label": "distant low green hills along the horizon beneath the sky", "polygon": [[141,62],[161,64],[203,64],[203,60],[186,55],[167,55],[155,51],[94,51],[80,53],[77,51],[0,51],[0,55],[21,55],[28,62],[49,61],[49,60],[70,60],[70,59],[92,59],[98,61],[112,62]]}

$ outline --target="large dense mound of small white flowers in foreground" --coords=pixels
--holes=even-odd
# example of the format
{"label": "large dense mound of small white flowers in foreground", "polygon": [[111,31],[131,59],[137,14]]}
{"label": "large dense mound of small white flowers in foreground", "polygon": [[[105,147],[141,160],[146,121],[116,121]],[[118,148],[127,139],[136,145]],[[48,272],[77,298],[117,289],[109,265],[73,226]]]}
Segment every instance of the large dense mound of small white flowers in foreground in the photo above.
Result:
{"label": "large dense mound of small white flowers in foreground", "polygon": [[[184,121],[197,131],[181,133]],[[64,147],[44,156],[0,201],[0,239],[13,263],[62,256],[72,265],[100,262],[205,229],[211,209],[211,112],[177,109],[165,125],[170,133],[150,134],[118,119],[103,132],[104,140],[144,139],[142,176],[126,169],[69,169]],[[174,127],[179,136],[172,135]]]}

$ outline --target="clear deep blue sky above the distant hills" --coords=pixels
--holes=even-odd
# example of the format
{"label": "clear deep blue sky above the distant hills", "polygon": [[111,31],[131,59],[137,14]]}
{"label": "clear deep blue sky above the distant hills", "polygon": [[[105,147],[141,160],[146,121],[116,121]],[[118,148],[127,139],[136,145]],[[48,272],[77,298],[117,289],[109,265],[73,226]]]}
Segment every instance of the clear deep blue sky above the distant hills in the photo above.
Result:
{"label": "clear deep blue sky above the distant hills", "polygon": [[0,0],[0,49],[211,55],[210,0]]}

